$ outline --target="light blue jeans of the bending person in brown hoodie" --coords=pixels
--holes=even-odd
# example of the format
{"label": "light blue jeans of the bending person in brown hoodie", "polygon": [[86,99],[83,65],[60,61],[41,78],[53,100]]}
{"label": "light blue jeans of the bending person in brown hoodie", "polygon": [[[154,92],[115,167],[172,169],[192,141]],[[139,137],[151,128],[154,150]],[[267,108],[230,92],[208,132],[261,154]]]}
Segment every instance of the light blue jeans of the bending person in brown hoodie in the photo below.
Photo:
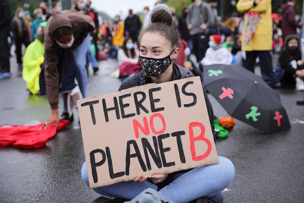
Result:
{"label": "light blue jeans of the bending person in brown hoodie", "polygon": [[85,37],[85,40],[81,43],[81,45],[75,48],[75,62],[77,66],[76,79],[78,81],[78,85],[83,98],[87,97],[88,76],[85,65],[87,62],[86,53],[90,47],[90,44],[90,35],[88,35]]}

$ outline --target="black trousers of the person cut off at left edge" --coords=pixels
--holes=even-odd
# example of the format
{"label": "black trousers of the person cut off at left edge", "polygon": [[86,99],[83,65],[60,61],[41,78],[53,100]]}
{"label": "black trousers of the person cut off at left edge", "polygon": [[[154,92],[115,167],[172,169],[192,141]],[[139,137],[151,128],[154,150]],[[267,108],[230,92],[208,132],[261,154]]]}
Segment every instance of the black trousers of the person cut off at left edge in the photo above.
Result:
{"label": "black trousers of the person cut off at left edge", "polygon": [[0,72],[10,72],[10,64],[9,64],[9,43],[7,41],[7,37],[9,36],[9,32],[0,30]]}

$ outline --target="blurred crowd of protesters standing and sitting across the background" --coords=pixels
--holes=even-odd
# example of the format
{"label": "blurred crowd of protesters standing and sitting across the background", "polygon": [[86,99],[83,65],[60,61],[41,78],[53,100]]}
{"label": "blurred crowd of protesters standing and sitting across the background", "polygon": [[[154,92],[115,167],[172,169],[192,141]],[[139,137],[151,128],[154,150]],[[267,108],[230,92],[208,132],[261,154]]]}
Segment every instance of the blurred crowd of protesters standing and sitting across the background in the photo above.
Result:
{"label": "blurred crowd of protesters standing and sitting across the background", "polygon": [[[291,87],[304,90],[302,32],[303,2],[296,0],[256,0],[254,3],[270,2],[269,16],[257,16],[255,23],[263,24],[260,37],[246,44],[245,50],[242,30],[248,26],[251,17],[243,15],[246,11],[243,1],[226,0],[162,0],[171,9],[174,26],[181,34],[181,56],[178,64],[202,75],[202,66],[211,64],[237,63],[254,72],[255,65],[261,65],[263,79],[271,87]],[[94,3],[94,1],[93,1]],[[141,70],[138,62],[137,34],[140,28],[150,23],[151,10],[145,6],[136,13],[129,7],[121,8],[117,14],[107,14],[107,8],[92,8],[92,1],[86,0],[0,0],[0,72],[10,76],[9,57],[16,55],[21,70],[26,57],[26,48],[40,39],[37,30],[47,21],[53,9],[61,12],[66,9],[85,11],[95,23],[90,33],[91,46],[87,52],[87,68],[98,71],[98,61],[117,58],[119,69],[113,77],[124,79]],[[113,5],[119,7],[119,5]],[[269,21],[268,21],[269,18]],[[267,19],[267,20],[265,20]],[[262,27],[262,25],[261,25]],[[271,27],[271,28],[270,28]],[[269,29],[270,30],[269,30]],[[250,30],[248,31],[250,32]],[[260,33],[264,32],[264,33]],[[272,34],[271,34],[272,32]],[[254,31],[251,31],[253,34]],[[246,33],[245,33],[246,34]],[[266,36],[267,35],[267,36]],[[270,35],[270,36],[268,36]],[[266,37],[266,38],[264,38]],[[271,38],[270,42],[269,39]],[[245,42],[244,42],[245,43]],[[271,46],[271,48],[268,48]],[[257,48],[258,47],[258,48]],[[212,48],[212,49],[209,49]],[[263,51],[263,52],[261,52]],[[37,52],[37,49],[36,49]],[[43,52],[43,51],[41,51]],[[273,66],[272,56],[278,55]],[[43,53],[40,53],[43,56]],[[220,55],[220,57],[218,57]],[[43,61],[43,60],[42,60]],[[270,67],[271,66],[271,67]],[[273,75],[271,72],[276,72]]]}

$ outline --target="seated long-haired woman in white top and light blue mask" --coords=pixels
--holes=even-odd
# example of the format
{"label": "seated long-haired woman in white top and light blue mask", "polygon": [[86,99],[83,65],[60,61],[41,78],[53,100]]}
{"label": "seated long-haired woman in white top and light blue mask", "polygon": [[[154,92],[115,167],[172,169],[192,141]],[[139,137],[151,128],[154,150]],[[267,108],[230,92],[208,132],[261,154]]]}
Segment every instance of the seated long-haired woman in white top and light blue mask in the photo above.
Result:
{"label": "seated long-haired woman in white top and light blue mask", "polygon": [[119,49],[117,54],[118,65],[123,62],[137,63],[139,58],[139,51],[134,49],[134,42],[131,38],[127,37],[123,41],[123,46]]}

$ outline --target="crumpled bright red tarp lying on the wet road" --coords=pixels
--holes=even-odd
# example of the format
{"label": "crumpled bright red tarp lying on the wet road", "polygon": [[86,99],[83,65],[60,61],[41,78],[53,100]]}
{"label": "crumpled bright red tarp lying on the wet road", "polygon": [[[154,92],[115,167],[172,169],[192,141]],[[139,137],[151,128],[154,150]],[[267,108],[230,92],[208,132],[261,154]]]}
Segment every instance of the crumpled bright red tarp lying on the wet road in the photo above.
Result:
{"label": "crumpled bright red tarp lying on the wet road", "polygon": [[[56,134],[55,123],[47,126],[45,129],[39,129],[40,123],[35,126],[0,126],[0,147],[12,145],[13,147],[34,149],[40,148]],[[65,128],[69,124],[68,120],[60,120],[57,130]]]}

